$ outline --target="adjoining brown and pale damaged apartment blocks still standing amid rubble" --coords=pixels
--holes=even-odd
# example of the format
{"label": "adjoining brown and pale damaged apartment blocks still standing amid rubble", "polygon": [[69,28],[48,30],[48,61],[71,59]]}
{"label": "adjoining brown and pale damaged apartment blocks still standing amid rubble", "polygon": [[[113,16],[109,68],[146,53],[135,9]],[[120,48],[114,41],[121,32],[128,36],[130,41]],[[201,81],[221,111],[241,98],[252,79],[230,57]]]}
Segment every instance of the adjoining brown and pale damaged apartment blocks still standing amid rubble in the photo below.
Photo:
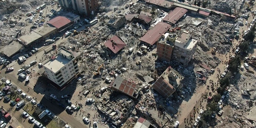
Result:
{"label": "adjoining brown and pale damaged apartment blocks still standing amid rubble", "polygon": [[177,29],[180,30],[174,28],[170,30],[171,33],[166,32],[161,36],[157,43],[158,58],[186,65],[193,59],[198,39],[188,31],[178,31],[177,34],[174,32]]}

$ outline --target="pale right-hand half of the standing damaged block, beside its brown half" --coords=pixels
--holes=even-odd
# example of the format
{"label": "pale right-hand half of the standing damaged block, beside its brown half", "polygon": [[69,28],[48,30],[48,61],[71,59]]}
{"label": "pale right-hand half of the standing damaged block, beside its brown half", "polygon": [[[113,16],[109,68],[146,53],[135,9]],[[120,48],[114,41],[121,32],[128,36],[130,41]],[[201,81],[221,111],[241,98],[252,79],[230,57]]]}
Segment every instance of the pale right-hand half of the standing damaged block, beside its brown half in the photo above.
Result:
{"label": "pale right-hand half of the standing damaged block, beside its brown half", "polygon": [[188,31],[183,31],[177,36],[174,43],[172,61],[185,65],[192,60],[198,41],[197,38],[192,36],[193,34]]}

